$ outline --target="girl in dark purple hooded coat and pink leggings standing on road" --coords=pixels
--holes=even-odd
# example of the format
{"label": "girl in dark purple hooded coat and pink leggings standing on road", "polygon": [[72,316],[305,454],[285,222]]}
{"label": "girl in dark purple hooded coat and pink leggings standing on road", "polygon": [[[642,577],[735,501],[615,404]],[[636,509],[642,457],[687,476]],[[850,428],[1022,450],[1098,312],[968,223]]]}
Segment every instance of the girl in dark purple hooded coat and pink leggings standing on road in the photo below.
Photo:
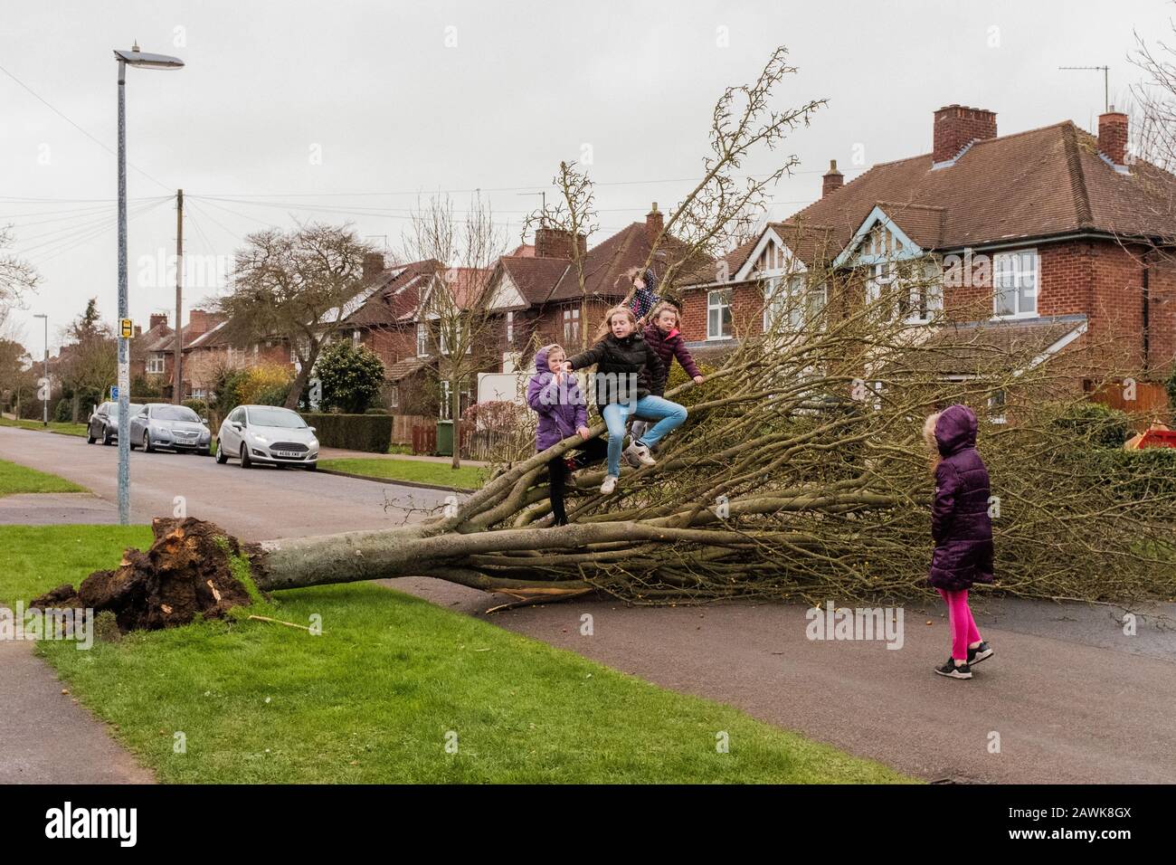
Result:
{"label": "girl in dark purple hooded coat and pink leggings standing on road", "polygon": [[993,657],[968,607],[973,584],[993,581],[988,468],[976,453],[976,414],[963,405],[944,408],[923,424],[935,466],[935,554],[927,581],[948,605],[951,625],[951,657],[935,672],[953,679],[970,679],[971,665]]}

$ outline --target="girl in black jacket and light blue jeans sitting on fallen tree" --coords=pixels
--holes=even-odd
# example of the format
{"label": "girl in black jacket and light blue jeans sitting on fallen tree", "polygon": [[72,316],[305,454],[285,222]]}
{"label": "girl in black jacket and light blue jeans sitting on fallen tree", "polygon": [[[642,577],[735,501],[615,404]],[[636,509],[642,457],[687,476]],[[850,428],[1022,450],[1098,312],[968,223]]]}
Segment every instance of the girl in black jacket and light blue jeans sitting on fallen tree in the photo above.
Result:
{"label": "girl in black jacket and light blue jeans sitting on fallen tree", "polygon": [[650,393],[653,382],[664,375],[664,367],[637,331],[637,319],[630,308],[615,306],[609,310],[602,331],[600,341],[569,358],[564,370],[573,372],[596,365],[596,406],[608,426],[608,474],[600,487],[607,495],[616,488],[621,475],[621,445],[628,418],[636,415],[657,421],[624,450],[630,464],[652,466],[655,460],[649,448],[686,421],[686,408]]}

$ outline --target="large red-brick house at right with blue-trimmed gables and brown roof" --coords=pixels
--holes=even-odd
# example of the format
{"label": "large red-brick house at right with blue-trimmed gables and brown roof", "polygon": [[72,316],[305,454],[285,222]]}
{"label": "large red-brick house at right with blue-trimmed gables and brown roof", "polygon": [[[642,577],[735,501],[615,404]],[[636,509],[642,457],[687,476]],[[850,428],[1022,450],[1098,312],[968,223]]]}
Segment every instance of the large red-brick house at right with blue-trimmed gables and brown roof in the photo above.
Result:
{"label": "large red-brick house at right with blue-trimmed gables and brown roof", "polygon": [[942,311],[951,324],[929,338],[944,344],[998,330],[1042,357],[1085,345],[1103,368],[1164,375],[1176,359],[1176,178],[1128,159],[1127,133],[1114,111],[1097,137],[1070,121],[998,137],[990,111],[940,108],[930,153],[848,184],[830,164],[820,200],[686,288],[689,345],[704,357],[762,333],[781,293],[803,292],[794,311],[848,293],[889,298],[913,325]]}

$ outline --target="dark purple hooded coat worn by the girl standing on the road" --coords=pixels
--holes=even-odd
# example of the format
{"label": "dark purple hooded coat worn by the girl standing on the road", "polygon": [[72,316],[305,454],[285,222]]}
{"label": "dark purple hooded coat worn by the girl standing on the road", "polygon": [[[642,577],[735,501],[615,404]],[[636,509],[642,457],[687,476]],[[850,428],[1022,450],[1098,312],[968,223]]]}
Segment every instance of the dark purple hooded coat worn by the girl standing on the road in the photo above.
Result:
{"label": "dark purple hooded coat worn by the girl standing on the road", "polygon": [[935,468],[935,554],[927,581],[957,592],[993,581],[988,470],[976,453],[975,413],[962,405],[946,408],[935,424],[935,443],[943,459]]}

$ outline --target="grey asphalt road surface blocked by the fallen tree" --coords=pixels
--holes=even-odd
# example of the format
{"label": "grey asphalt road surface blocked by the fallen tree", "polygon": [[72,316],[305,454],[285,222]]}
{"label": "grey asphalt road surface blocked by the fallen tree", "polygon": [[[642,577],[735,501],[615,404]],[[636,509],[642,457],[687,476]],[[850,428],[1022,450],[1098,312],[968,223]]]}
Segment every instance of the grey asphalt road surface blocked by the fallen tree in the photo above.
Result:
{"label": "grey asphalt road surface blocked by the fallen tree", "polygon": [[[0,459],[55,472],[109,501],[115,457],[83,439],[0,427]],[[399,524],[446,495],[167,453],[134,453],[132,480],[136,520],[171,513],[174,497],[183,495],[191,515],[249,540]],[[500,600],[425,578],[388,583],[473,616]],[[936,604],[906,605],[901,650],[809,640],[804,612],[781,604],[576,601],[488,618],[926,779],[1176,783],[1176,605],[1158,608],[1168,624],[1144,617],[1128,637],[1120,610],[987,601],[977,621],[996,656],[971,681],[931,673],[949,652]],[[582,634],[584,614],[592,636]]]}

